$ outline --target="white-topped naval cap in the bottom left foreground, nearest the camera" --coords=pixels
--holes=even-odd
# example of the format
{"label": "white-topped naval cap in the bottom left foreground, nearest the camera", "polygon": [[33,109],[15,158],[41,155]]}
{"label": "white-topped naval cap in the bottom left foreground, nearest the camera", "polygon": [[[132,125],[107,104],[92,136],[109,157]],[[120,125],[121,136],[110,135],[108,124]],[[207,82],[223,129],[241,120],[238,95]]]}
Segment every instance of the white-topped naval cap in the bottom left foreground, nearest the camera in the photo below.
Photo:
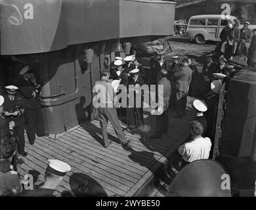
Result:
{"label": "white-topped naval cap in the bottom left foreground, nearest the camera", "polygon": [[65,176],[68,171],[71,170],[70,165],[58,159],[49,159],[49,165],[47,167],[47,171],[53,173],[58,176]]}

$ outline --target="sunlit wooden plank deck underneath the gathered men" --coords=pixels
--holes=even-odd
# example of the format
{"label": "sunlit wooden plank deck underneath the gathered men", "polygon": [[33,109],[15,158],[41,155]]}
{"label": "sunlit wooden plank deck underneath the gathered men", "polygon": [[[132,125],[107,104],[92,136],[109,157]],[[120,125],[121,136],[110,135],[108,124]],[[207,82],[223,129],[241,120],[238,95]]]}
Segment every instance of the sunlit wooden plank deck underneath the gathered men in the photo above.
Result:
{"label": "sunlit wooden plank deck underneath the gathered men", "polygon": [[[72,167],[61,186],[54,192],[61,196],[65,190],[74,195],[79,183],[88,180],[91,196],[139,196],[150,192],[146,184],[154,179],[154,175],[166,163],[167,159],[188,136],[188,124],[193,118],[188,110],[185,119],[174,119],[170,114],[169,133],[161,139],[142,140],[139,134],[125,131],[131,139],[131,145],[123,148],[119,144],[111,124],[108,126],[112,144],[108,148],[102,146],[99,121],[84,123],[58,139],[48,137],[37,138],[32,146],[26,138],[26,158],[18,158],[18,171],[24,176],[30,173],[35,184],[44,181],[47,159],[60,159]],[[152,126],[154,132],[155,116],[146,116],[145,122]],[[125,124],[121,123],[122,127]]]}

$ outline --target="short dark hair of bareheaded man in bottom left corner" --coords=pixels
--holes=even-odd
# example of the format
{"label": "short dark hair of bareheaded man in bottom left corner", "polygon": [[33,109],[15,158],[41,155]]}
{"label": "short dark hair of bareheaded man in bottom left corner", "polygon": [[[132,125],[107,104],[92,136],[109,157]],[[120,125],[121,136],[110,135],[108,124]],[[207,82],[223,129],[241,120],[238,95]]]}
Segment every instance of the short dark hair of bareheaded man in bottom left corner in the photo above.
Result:
{"label": "short dark hair of bareheaded man in bottom left corner", "polygon": [[16,151],[18,138],[14,135],[7,135],[1,140],[1,158],[11,158],[12,154]]}

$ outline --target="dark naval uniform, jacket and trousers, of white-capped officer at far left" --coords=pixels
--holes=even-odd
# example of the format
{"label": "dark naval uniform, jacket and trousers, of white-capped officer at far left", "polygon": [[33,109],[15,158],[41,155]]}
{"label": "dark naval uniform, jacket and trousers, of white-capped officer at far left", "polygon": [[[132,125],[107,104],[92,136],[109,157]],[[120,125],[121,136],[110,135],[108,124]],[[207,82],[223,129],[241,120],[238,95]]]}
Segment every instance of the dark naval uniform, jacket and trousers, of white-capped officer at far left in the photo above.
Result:
{"label": "dark naval uniform, jacket and trousers, of white-capped officer at far left", "polygon": [[24,104],[24,98],[16,93],[16,95],[11,98],[9,98],[8,95],[5,95],[5,104],[3,106],[4,112],[16,112],[19,111],[20,114],[18,116],[5,116],[5,119],[7,119],[7,122],[14,121],[15,127],[14,127],[14,135],[18,137],[18,153],[22,154],[24,153],[25,148],[25,138],[24,138],[24,129],[25,129],[25,116],[22,114],[22,110],[25,109]]}

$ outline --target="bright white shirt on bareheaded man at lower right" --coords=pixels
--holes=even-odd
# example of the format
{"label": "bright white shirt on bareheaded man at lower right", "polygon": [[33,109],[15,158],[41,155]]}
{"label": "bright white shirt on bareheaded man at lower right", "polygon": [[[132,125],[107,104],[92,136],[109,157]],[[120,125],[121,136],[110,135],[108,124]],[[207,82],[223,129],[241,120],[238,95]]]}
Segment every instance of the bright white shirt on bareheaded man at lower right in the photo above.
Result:
{"label": "bright white shirt on bareheaded man at lower right", "polygon": [[211,150],[211,140],[208,137],[195,138],[179,147],[179,154],[184,161],[192,162],[198,159],[208,159]]}

